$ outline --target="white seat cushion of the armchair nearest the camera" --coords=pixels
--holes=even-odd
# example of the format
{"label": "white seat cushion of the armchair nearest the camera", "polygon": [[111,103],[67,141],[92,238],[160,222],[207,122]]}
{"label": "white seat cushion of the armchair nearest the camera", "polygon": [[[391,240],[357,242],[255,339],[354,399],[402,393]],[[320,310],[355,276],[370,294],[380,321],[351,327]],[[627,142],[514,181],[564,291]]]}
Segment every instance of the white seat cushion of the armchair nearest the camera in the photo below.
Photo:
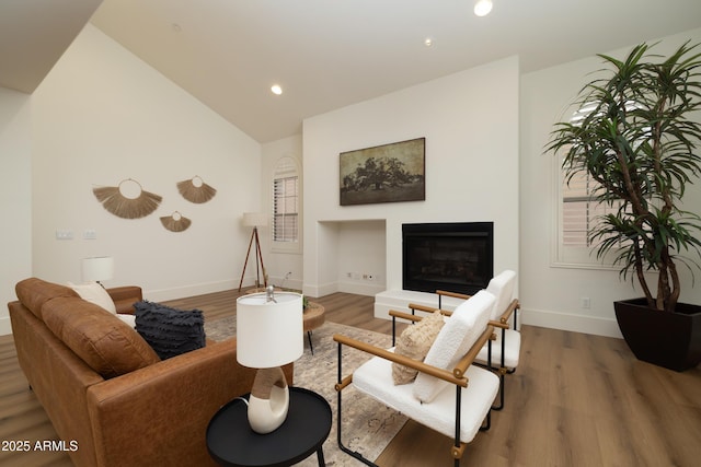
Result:
{"label": "white seat cushion of the armchair nearest the camera", "polygon": [[[469,443],[490,411],[499,388],[499,378],[474,365],[466,375],[469,384],[461,389],[460,441]],[[422,402],[413,394],[414,384],[397,386],[392,378],[392,362],[379,357],[353,373],[353,386],[358,390],[446,436],[455,436],[457,386],[446,384],[430,402]]]}

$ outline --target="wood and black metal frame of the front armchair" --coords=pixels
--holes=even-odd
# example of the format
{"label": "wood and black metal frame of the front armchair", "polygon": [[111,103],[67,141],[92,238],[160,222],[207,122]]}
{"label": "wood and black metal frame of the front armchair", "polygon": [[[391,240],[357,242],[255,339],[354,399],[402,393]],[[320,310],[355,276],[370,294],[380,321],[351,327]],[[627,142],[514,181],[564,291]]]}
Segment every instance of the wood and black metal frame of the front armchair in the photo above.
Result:
{"label": "wood and black metal frame of the front armchair", "polygon": [[[416,316],[416,315],[410,315],[407,313],[402,313],[402,312],[397,312],[397,311],[390,311],[389,312],[390,315],[392,316],[392,345],[394,343],[394,325],[395,325],[395,320],[397,318],[402,318],[402,319],[409,319],[411,322],[417,322],[421,320],[422,317],[421,316]],[[449,315],[450,312],[441,312],[446,315]],[[460,417],[461,417],[461,404],[462,404],[462,388],[468,387],[469,381],[468,377],[466,376],[466,373],[468,371],[468,367],[474,362],[474,359],[476,358],[478,353],[480,352],[480,350],[482,349],[482,347],[484,347],[485,345],[489,345],[490,347],[490,355],[491,355],[491,341],[495,339],[495,334],[494,334],[494,326],[492,326],[491,324],[487,325],[487,327],[485,328],[485,330],[482,332],[482,335],[480,336],[480,338],[475,341],[475,343],[470,348],[470,350],[460,359],[460,361],[456,364],[456,366],[452,369],[452,371],[448,371],[448,370],[444,370],[437,366],[432,366],[428,365],[422,361],[418,360],[413,360],[410,359],[405,355],[401,355],[401,354],[395,354],[394,352],[391,352],[389,350],[343,336],[343,335],[334,335],[333,339],[338,342],[338,383],[334,386],[335,390],[337,393],[337,430],[336,430],[336,436],[337,436],[337,442],[338,442],[338,447],[341,448],[341,451],[345,452],[346,454],[355,457],[356,459],[360,460],[361,463],[368,465],[368,466],[375,466],[377,467],[377,465],[375,463],[372,463],[371,460],[367,459],[366,457],[364,457],[360,453],[356,452],[356,451],[352,451],[348,447],[346,447],[343,444],[342,441],[342,419],[343,419],[343,413],[342,413],[342,390],[347,387],[348,385],[350,385],[353,383],[353,374],[347,375],[347,376],[343,376],[343,362],[342,362],[342,349],[343,346],[348,346],[352,348],[355,348],[357,350],[360,350],[363,352],[367,352],[370,353],[371,355],[375,357],[379,357],[386,360],[389,360],[391,362],[394,363],[399,363],[405,366],[409,366],[411,369],[417,370],[422,373],[426,373],[428,375],[435,376],[437,378],[440,378],[443,381],[446,381],[452,385],[455,385],[456,387],[456,412],[455,412],[455,427],[456,427],[456,431],[455,431],[455,442],[453,445],[451,447],[451,456],[455,459],[455,467],[459,467],[460,465],[460,459],[466,450],[466,445],[467,443],[463,443],[460,441]],[[489,342],[489,343],[487,343]],[[491,362],[490,362],[491,363]],[[446,389],[447,390],[447,389]],[[483,422],[482,427],[480,427],[480,431],[486,431],[490,429],[491,427],[491,409],[490,411],[487,411],[486,415],[486,419]]]}

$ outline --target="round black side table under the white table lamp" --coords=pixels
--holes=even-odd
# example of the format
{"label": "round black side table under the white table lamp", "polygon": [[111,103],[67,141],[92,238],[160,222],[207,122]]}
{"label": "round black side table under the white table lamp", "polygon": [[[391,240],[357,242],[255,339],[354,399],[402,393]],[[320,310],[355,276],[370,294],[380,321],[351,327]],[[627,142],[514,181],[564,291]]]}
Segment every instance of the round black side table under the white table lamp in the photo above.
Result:
{"label": "round black side table under the white table lamp", "polygon": [[233,399],[209,422],[207,448],[219,465],[234,467],[290,466],[315,451],[322,467],[325,466],[323,443],[331,422],[326,399],[309,389],[290,387],[285,422],[272,433],[258,434],[249,425],[248,406],[241,399]]}

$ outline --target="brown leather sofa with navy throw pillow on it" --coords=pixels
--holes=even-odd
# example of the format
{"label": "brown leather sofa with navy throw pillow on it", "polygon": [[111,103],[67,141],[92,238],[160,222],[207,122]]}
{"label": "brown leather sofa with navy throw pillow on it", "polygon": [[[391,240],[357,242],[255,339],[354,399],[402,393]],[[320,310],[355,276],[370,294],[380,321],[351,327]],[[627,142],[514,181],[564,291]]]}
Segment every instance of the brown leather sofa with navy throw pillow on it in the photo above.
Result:
{"label": "brown leather sofa with navy throw pillow on it", "polygon": [[[72,289],[37,278],[8,304],[20,365],[76,466],[216,465],[209,420],[251,390],[235,339],[161,361],[130,326]],[[141,289],[108,290],[130,312]],[[292,381],[292,366],[285,373]]]}

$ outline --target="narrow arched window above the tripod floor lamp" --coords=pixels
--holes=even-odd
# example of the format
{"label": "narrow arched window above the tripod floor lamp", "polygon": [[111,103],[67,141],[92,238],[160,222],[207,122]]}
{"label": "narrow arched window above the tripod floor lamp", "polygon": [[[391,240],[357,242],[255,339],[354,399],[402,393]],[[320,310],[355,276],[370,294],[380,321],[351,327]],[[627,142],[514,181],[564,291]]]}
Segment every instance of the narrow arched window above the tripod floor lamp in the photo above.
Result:
{"label": "narrow arched window above the tripod floor lamp", "polygon": [[273,178],[273,242],[299,242],[299,175],[291,157],[284,157]]}

